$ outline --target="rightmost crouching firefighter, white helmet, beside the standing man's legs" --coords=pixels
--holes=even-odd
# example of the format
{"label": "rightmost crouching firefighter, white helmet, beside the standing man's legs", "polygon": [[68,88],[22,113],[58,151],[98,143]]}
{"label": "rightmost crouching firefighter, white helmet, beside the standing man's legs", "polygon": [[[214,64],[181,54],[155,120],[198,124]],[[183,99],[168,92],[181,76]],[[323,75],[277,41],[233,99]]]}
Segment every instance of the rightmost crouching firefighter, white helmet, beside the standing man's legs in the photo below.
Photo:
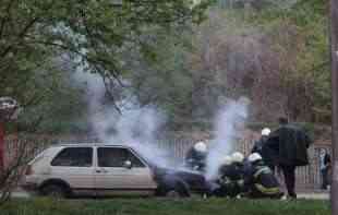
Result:
{"label": "rightmost crouching firefighter, white helmet, beside the standing man's legs", "polygon": [[245,187],[249,198],[280,199],[283,193],[279,189],[279,183],[269,167],[267,167],[258,153],[253,153],[248,157],[251,163],[251,171],[245,177]]}

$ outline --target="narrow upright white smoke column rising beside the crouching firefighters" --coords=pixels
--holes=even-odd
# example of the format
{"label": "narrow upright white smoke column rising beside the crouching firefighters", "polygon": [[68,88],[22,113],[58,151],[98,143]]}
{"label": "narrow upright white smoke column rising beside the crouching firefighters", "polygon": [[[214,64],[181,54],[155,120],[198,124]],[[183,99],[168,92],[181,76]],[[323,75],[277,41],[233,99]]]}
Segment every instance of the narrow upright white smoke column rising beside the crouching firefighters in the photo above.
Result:
{"label": "narrow upright white smoke column rising beside the crouching firefighters", "polygon": [[216,138],[209,150],[206,164],[207,179],[215,179],[221,159],[234,150],[237,139],[243,131],[248,118],[249,99],[230,100],[216,116]]}

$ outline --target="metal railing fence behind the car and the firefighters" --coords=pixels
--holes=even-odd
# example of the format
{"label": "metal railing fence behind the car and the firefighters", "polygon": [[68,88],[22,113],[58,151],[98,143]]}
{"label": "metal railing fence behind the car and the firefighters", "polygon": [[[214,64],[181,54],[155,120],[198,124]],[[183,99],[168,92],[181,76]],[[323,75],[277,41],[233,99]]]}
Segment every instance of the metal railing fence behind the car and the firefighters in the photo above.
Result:
{"label": "metal railing fence behind the car and the firefighters", "polygon": [[[58,143],[77,143],[77,142],[98,142],[96,138],[90,136],[43,136],[43,135],[19,135],[9,136],[5,140],[5,164],[10,164],[19,154],[17,150],[25,150],[33,158],[44,148]],[[212,141],[209,141],[212,142]],[[194,145],[192,139],[165,139],[156,142],[156,147],[167,152],[173,159],[182,162],[185,153]],[[234,144],[236,151],[240,151],[248,155],[253,146],[254,140],[251,138],[238,140]],[[22,147],[22,144],[25,146]],[[300,167],[297,170],[297,186],[301,189],[317,190],[321,188],[319,171],[319,153],[325,148],[331,154],[329,145],[312,145],[309,150],[310,165]]]}

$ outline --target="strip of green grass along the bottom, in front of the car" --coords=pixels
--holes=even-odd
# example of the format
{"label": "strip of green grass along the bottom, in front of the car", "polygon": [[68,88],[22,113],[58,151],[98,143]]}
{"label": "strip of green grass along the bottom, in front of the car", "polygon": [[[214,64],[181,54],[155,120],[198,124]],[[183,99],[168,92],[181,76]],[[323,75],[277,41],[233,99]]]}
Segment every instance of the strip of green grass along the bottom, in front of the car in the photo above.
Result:
{"label": "strip of green grass along the bottom, in front of the car", "polygon": [[329,215],[327,201],[225,199],[12,200],[0,215]]}

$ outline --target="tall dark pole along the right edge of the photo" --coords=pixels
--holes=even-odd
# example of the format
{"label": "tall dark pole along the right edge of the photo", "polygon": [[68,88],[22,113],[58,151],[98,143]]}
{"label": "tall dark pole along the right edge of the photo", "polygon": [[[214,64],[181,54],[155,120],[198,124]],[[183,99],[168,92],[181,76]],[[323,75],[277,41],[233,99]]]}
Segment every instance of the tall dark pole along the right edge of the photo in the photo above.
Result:
{"label": "tall dark pole along the right edge of the photo", "polygon": [[333,187],[331,214],[338,214],[338,0],[330,0],[330,57],[333,87]]}

